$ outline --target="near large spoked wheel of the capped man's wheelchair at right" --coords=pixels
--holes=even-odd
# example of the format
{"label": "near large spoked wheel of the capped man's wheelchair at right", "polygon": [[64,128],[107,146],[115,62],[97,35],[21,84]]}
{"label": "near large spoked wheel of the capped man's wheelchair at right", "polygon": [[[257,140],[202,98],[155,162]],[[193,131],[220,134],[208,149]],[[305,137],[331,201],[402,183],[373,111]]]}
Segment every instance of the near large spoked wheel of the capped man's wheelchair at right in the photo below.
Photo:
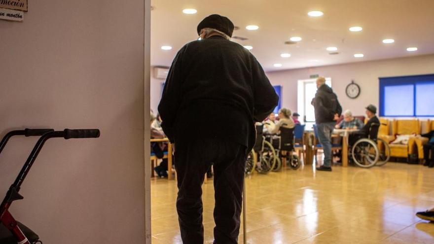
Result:
{"label": "near large spoked wheel of the capped man's wheelchair at right", "polygon": [[352,155],[354,163],[358,166],[371,168],[377,163],[380,153],[377,144],[373,140],[363,138],[354,144]]}

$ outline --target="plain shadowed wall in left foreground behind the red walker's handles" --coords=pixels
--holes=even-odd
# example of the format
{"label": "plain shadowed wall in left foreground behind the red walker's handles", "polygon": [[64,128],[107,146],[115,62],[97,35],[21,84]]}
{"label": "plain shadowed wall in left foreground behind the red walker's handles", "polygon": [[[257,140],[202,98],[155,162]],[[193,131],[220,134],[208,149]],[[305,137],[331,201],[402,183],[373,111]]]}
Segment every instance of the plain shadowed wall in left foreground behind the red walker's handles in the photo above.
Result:
{"label": "plain shadowed wall in left foreground behind the red walker's handles", "polygon": [[[24,181],[10,210],[44,243],[145,243],[144,12],[144,0],[38,0],[23,23],[0,21],[0,136],[101,130],[47,141]],[[1,197],[35,141],[0,155]]]}

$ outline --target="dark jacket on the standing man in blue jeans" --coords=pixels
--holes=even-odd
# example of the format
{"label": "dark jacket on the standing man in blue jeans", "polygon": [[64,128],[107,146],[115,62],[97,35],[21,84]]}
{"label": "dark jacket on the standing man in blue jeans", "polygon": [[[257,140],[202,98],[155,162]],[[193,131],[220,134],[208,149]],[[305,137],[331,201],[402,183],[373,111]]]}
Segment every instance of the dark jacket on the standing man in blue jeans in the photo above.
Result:
{"label": "dark jacket on the standing man in blue jeans", "polygon": [[337,96],[325,84],[318,88],[312,104],[315,107],[315,121],[317,124],[333,122],[336,113],[341,116],[342,107],[337,100]]}

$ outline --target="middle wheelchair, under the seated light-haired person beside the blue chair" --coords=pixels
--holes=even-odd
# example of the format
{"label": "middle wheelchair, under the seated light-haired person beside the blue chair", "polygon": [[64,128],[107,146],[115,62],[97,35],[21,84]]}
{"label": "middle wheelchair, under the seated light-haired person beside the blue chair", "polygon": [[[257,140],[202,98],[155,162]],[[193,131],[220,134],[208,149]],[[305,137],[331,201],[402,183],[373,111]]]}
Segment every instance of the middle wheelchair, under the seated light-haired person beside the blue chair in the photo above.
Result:
{"label": "middle wheelchair, under the seated light-haired person beside the blue chair", "polygon": [[289,166],[291,169],[296,170],[300,168],[301,163],[297,155],[294,154],[294,137],[295,128],[280,128],[279,136],[271,136],[271,144],[276,150],[277,162],[272,169],[274,172],[280,171],[282,166]]}

